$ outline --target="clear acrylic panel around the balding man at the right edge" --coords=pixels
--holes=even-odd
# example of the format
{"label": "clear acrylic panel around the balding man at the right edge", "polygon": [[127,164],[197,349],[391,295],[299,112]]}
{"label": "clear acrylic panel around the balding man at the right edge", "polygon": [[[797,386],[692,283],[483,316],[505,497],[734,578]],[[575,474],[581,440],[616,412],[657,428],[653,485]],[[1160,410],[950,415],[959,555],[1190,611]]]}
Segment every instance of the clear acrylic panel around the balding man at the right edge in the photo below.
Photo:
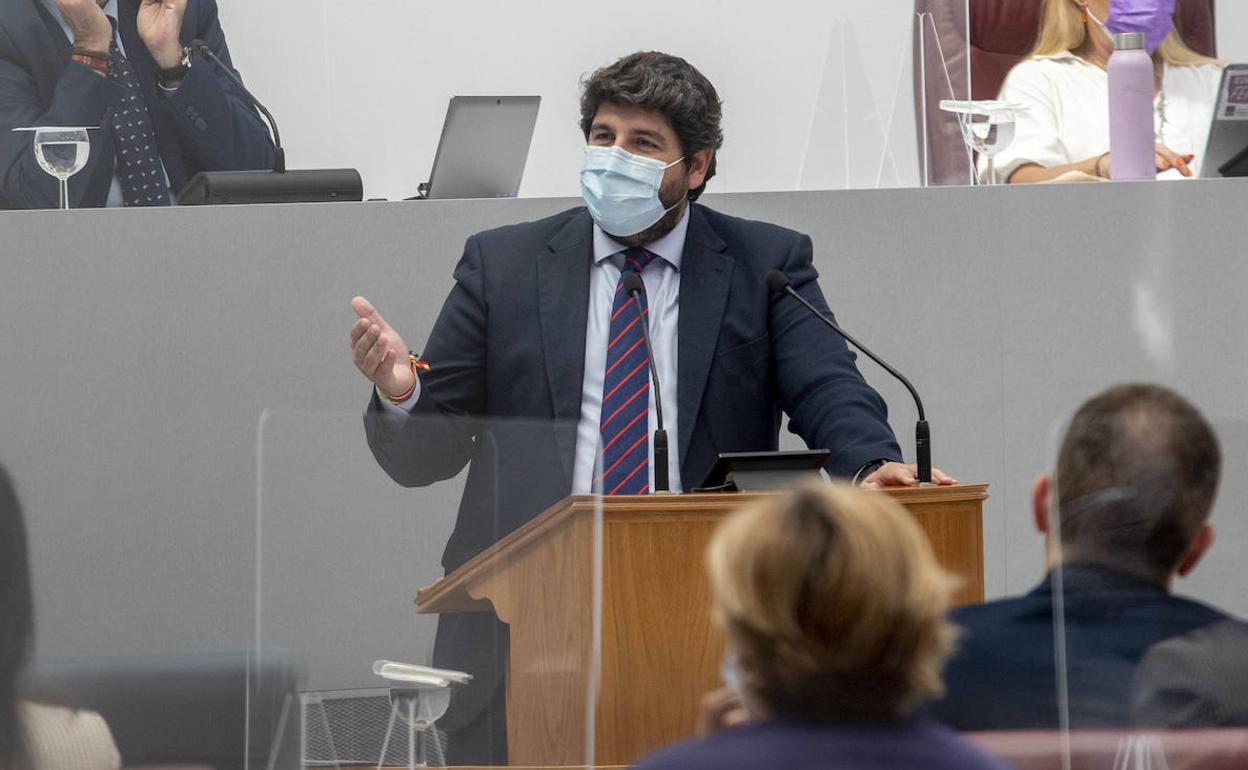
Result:
{"label": "clear acrylic panel around the balding man at the right edge", "polygon": [[1053,679],[1035,714],[1058,729],[1066,766],[1244,766],[1248,422],[1132,398],[1055,429],[1066,449],[1052,453],[1052,569],[1037,589],[1052,598]]}

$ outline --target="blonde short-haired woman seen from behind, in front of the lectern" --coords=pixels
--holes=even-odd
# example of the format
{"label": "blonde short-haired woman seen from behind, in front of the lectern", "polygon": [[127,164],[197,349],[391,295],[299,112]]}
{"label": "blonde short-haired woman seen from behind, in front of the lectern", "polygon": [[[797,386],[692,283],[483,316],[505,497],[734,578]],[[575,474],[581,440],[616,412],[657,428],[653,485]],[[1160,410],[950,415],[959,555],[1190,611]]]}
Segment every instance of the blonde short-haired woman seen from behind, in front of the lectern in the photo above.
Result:
{"label": "blonde short-haired woman seen from behind, in front of the lectern", "polygon": [[725,520],[706,560],[749,720],[638,770],[1007,768],[912,716],[941,693],[952,580],[889,497],[820,484],[768,499]]}

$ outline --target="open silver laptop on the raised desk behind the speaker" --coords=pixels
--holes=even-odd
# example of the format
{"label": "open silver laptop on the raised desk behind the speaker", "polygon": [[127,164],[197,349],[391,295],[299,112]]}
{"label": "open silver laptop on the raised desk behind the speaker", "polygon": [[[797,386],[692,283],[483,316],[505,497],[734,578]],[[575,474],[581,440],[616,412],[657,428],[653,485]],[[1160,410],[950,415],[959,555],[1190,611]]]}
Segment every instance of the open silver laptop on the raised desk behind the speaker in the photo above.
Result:
{"label": "open silver laptop on the raised desk behind the speaker", "polygon": [[540,96],[456,96],[423,198],[510,198],[520,192]]}

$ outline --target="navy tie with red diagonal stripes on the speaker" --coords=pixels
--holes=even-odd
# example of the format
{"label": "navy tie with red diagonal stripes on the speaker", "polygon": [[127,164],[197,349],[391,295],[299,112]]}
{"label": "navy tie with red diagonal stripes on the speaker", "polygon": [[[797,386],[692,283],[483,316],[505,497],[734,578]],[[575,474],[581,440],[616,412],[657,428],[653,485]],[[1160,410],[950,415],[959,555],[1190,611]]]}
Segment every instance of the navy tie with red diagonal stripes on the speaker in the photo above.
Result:
{"label": "navy tie with red diagonal stripes on the speaker", "polygon": [[651,260],[654,255],[643,248],[625,251],[615,286],[603,378],[603,494],[650,492],[650,357],[641,337],[641,318],[649,322],[649,309],[643,288],[638,313],[636,300],[624,292],[624,276],[640,273]]}

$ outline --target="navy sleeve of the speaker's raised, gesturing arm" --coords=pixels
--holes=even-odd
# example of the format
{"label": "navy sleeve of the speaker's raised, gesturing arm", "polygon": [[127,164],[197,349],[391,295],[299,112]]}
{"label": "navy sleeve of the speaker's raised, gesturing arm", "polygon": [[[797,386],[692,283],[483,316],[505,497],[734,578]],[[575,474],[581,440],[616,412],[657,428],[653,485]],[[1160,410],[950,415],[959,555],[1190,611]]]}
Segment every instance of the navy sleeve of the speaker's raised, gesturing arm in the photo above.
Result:
{"label": "navy sleeve of the speaker's raised, gesturing arm", "polygon": [[364,412],[368,447],[404,487],[451,478],[472,459],[485,413],[487,303],[480,247],[468,240],[456,285],[433,324],[422,356],[421,397],[411,416],[384,409],[376,391]]}

